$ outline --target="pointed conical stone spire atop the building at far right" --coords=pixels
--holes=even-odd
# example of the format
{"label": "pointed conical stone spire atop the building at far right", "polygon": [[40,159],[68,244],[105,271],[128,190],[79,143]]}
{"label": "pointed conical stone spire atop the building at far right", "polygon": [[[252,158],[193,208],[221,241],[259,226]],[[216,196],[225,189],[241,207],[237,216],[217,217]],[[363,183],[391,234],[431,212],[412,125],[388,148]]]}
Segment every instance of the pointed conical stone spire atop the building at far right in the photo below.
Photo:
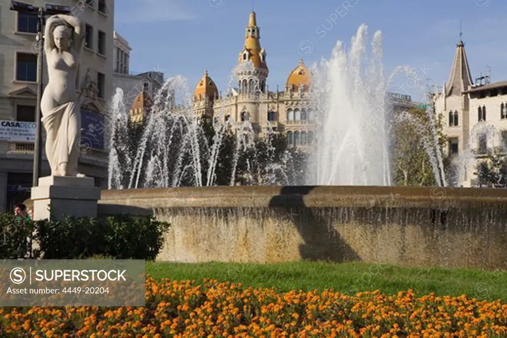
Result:
{"label": "pointed conical stone spire atop the building at far right", "polygon": [[465,45],[463,41],[459,40],[456,45],[456,53],[454,54],[454,61],[449,74],[449,81],[446,84],[445,94],[446,96],[461,95],[461,92],[467,90],[468,86],[473,84],[466,58]]}

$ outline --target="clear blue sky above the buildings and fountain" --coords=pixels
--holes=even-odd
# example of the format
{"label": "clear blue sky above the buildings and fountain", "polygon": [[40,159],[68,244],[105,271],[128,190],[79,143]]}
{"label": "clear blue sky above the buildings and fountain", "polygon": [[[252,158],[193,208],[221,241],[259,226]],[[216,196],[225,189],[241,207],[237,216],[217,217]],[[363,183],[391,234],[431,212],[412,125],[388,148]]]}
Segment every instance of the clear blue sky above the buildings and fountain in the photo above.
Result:
{"label": "clear blue sky above the buildings and fountain", "polygon": [[[225,92],[243,47],[251,0],[117,0],[115,6],[115,30],[132,48],[131,71],[160,67],[166,78],[181,75],[193,89],[208,69]],[[442,85],[461,20],[472,77],[489,67],[492,82],[507,79],[505,0],[257,0],[253,6],[270,90],[284,87],[300,53],[306,63],[329,58],[337,41],[349,45],[363,23],[370,36],[382,31],[386,73],[399,65],[424,67],[427,75],[421,82]],[[420,92],[409,94],[420,98]]]}

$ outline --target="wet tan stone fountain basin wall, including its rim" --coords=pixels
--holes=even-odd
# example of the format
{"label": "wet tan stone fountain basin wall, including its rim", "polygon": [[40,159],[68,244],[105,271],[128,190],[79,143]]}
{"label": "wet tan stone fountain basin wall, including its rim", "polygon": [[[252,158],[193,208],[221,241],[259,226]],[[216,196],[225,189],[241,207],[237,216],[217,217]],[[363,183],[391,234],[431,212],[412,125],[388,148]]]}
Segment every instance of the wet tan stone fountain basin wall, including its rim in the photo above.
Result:
{"label": "wet tan stone fountain basin wall, including its rim", "polygon": [[332,260],[493,270],[507,263],[507,191],[389,186],[104,190],[102,215],[172,224],[161,261]]}

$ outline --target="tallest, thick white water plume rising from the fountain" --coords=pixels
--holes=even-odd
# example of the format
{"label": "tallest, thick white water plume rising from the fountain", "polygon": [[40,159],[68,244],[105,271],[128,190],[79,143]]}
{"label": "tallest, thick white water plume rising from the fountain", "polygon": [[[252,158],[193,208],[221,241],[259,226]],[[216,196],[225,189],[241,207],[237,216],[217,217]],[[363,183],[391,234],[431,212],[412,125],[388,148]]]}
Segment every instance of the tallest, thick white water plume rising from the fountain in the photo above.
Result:
{"label": "tallest, thick white water plume rising from the fountain", "polygon": [[366,51],[367,26],[341,42],[314,71],[312,98],[321,122],[313,177],[318,185],[390,185],[386,82],[382,35],[375,32],[372,57]]}

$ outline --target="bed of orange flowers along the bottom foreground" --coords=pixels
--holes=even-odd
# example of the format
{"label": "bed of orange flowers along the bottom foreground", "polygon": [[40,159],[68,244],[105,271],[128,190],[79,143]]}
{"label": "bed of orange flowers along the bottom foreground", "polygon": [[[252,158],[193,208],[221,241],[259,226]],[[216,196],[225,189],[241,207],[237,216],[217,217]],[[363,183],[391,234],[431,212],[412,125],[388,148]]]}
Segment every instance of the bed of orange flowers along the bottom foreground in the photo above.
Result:
{"label": "bed of orange flowers along the bottom foreground", "polygon": [[3,337],[505,336],[507,305],[379,291],[277,292],[206,280],[147,279],[143,308],[5,308]]}

